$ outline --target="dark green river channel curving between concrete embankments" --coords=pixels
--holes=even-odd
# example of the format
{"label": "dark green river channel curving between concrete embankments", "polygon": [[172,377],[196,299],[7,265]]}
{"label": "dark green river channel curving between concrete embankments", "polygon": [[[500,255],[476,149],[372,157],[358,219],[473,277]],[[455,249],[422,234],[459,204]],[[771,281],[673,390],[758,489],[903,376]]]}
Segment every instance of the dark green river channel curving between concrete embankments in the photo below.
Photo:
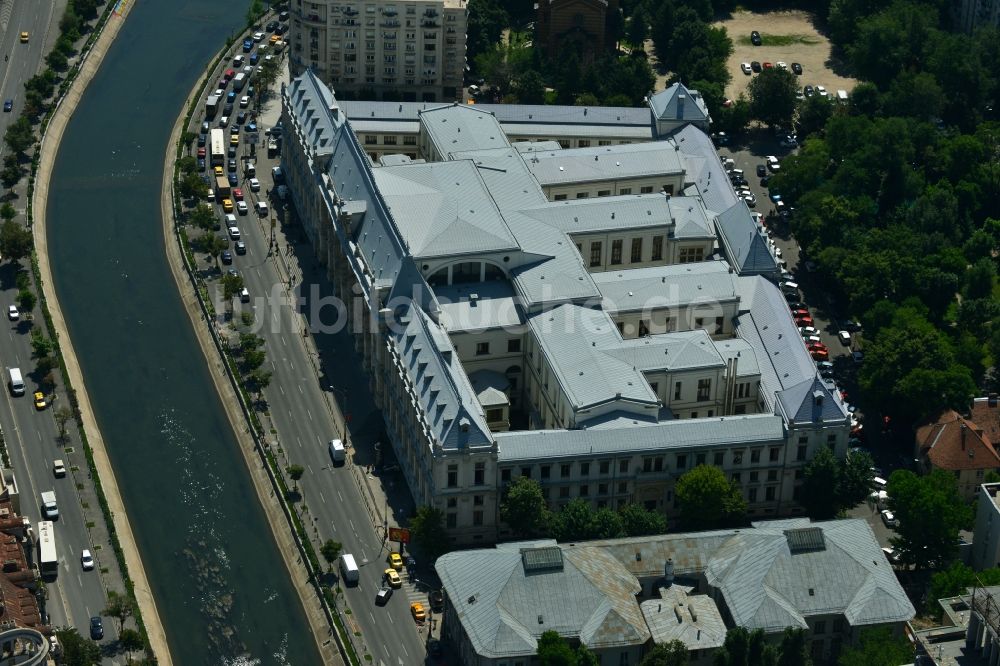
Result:
{"label": "dark green river channel curving between concrete embankments", "polygon": [[66,129],[48,204],[55,290],[184,666],[320,663],[163,247],[168,136],[247,5],[134,2]]}

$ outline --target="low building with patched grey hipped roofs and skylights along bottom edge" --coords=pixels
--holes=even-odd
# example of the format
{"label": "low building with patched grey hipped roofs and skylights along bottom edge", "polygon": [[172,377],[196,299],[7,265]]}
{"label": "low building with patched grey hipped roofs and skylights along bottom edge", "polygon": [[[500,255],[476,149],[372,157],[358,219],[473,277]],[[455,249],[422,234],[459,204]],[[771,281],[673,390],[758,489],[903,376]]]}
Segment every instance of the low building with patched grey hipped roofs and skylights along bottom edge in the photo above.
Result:
{"label": "low building with patched grey hipped roofs and skylights along bottom edge", "polygon": [[915,615],[863,519],[770,520],[738,530],[573,544],[515,542],[438,558],[442,621],[463,664],[528,666],[558,631],[602,664],[638,664],[680,640],[689,663],[711,664],[734,626],[777,642],[805,630],[816,663],[861,631],[902,636]]}

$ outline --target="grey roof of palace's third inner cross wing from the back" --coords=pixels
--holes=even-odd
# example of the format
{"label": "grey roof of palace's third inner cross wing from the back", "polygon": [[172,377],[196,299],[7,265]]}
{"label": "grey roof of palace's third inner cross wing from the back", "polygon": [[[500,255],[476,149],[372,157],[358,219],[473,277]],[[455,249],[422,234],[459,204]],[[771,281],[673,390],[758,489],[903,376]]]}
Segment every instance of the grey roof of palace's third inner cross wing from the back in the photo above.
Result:
{"label": "grey roof of palace's third inner cross wing from the back", "polygon": [[724,261],[605,271],[591,277],[604,299],[601,306],[609,312],[739,301],[738,278]]}

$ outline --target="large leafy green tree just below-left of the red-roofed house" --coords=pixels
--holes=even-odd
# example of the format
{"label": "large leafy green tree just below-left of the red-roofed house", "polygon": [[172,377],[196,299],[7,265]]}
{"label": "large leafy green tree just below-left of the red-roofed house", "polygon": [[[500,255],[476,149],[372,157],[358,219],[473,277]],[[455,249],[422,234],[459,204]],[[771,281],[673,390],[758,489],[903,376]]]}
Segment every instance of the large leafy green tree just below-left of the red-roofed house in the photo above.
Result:
{"label": "large leafy green tree just below-left of the red-roofed house", "polygon": [[891,541],[900,561],[918,569],[949,564],[958,552],[959,531],[972,521],[972,510],[959,496],[955,476],[943,470],[927,476],[896,470],[886,490],[889,507],[899,521]]}

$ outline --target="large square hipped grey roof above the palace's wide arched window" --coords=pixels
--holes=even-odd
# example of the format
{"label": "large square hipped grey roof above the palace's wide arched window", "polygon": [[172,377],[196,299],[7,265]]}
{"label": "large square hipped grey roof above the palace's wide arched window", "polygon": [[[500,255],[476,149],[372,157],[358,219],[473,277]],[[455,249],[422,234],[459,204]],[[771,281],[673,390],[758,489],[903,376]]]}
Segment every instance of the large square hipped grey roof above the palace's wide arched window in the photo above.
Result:
{"label": "large square hipped grey roof above the palace's wide arched window", "polygon": [[517,250],[478,170],[468,160],[403,164],[373,171],[414,257]]}

